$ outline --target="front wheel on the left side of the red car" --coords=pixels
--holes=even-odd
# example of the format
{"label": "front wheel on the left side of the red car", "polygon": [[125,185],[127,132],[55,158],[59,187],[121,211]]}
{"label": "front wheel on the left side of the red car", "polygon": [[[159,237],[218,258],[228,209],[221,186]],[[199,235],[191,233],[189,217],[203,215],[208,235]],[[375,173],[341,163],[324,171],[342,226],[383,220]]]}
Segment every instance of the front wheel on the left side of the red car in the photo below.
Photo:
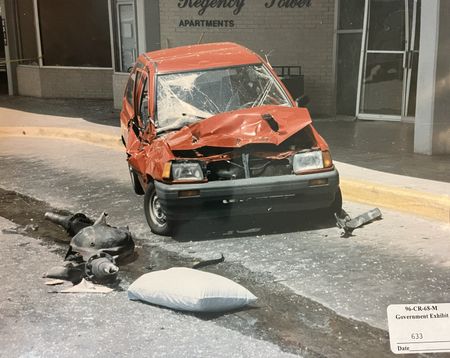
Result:
{"label": "front wheel on the left side of the red car", "polygon": [[153,183],[149,183],[145,192],[144,211],[147,223],[153,233],[168,236],[173,232],[175,224],[167,220]]}

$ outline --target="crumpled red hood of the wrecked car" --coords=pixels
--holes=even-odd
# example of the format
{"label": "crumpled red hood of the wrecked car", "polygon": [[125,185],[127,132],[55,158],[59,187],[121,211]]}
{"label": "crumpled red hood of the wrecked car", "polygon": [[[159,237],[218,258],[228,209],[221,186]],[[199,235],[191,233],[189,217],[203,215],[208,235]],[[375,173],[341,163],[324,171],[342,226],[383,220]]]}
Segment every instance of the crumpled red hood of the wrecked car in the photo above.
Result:
{"label": "crumpled red hood of the wrecked car", "polygon": [[309,124],[311,117],[305,108],[262,106],[217,114],[170,133],[165,140],[172,150],[278,145]]}

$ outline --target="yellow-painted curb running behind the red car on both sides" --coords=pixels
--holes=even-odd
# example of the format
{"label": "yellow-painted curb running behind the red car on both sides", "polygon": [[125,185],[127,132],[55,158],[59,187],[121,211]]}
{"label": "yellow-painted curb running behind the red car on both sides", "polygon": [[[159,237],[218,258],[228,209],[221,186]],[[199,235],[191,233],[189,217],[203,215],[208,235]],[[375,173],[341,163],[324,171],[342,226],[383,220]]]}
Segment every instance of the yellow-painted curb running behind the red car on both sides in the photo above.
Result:
{"label": "yellow-painted curb running behind the red car on both sides", "polygon": [[[60,127],[0,127],[0,136],[53,137],[80,140],[90,144],[123,151],[119,136],[83,129]],[[341,190],[345,199],[372,206],[382,206],[408,214],[419,215],[450,223],[450,197],[418,190],[388,186],[376,182],[342,178]]]}

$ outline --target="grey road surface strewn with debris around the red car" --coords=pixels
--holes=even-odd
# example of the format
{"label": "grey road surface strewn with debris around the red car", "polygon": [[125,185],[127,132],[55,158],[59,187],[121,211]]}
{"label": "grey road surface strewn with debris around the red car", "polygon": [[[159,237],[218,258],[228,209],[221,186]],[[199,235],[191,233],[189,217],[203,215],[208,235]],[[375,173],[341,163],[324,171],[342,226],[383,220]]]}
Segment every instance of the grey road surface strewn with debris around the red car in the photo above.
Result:
{"label": "grey road surface strewn with debris around the red car", "polygon": [[[280,327],[273,316],[256,329],[261,322],[252,326],[253,316],[246,312],[199,319],[128,302],[123,292],[82,299],[48,295],[40,274],[61,260],[58,248],[23,235],[2,234],[1,286],[8,287],[0,293],[7,308],[0,316],[7,323],[0,327],[4,356],[70,356],[75,352],[142,356],[150,345],[155,356],[247,357],[293,352],[357,357],[369,347],[372,353],[365,356],[379,357],[390,355],[389,304],[448,301],[450,242],[445,224],[382,209],[383,220],[356,230],[350,238],[342,238],[332,222],[314,215],[193,222],[177,237],[164,238],[151,234],[145,223],[143,200],[131,190],[124,153],[74,141],[2,138],[0,161],[0,187],[91,217],[105,210],[113,225],[128,225],[150,251],[155,248],[192,260],[223,253],[228,265],[223,272],[260,290],[258,296],[266,297],[263,302],[269,308],[272,302],[274,307],[278,303],[267,297],[277,294],[280,302],[296,301],[293,307],[303,308],[297,312],[287,308],[286,317],[277,311],[279,320],[289,321],[297,315],[309,327],[302,332],[303,345],[296,349],[289,343],[289,325]],[[344,208],[351,215],[370,209],[345,202],[345,198]],[[2,228],[10,225],[2,221]],[[133,278],[131,271],[124,270],[129,275],[123,289]],[[14,302],[9,296],[20,299]],[[345,320],[338,324],[342,331],[333,326],[340,319]],[[284,330],[283,339],[270,334],[271,326]],[[306,343],[314,346],[313,328],[328,332],[324,338],[328,343],[323,344],[328,348],[317,346],[309,351]],[[358,331],[364,331],[360,347],[354,342],[346,344]],[[86,344],[89,341],[92,344]],[[345,346],[346,353],[342,353]]]}

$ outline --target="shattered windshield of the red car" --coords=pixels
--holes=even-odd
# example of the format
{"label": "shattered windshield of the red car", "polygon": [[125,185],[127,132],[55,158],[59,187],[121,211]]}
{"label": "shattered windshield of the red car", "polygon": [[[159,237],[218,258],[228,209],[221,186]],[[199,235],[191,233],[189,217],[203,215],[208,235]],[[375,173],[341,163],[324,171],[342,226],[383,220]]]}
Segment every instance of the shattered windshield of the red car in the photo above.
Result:
{"label": "shattered windshield of the red car", "polygon": [[158,76],[158,132],[178,129],[217,113],[262,105],[291,106],[262,65]]}

